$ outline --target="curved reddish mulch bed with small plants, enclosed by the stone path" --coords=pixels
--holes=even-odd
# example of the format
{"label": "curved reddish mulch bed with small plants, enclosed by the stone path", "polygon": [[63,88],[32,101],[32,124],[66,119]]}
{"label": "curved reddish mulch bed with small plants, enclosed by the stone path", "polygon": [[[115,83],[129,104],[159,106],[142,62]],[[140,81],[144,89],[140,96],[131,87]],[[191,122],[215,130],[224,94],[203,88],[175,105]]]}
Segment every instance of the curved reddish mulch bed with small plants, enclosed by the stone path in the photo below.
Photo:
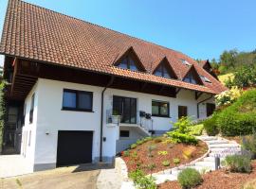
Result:
{"label": "curved reddish mulch bed with small plants, enclosed by the stone path", "polygon": [[140,144],[122,153],[121,158],[128,167],[128,172],[141,169],[151,174],[179,164],[190,163],[203,156],[208,150],[205,143],[198,145],[173,144],[164,137],[158,137]]}

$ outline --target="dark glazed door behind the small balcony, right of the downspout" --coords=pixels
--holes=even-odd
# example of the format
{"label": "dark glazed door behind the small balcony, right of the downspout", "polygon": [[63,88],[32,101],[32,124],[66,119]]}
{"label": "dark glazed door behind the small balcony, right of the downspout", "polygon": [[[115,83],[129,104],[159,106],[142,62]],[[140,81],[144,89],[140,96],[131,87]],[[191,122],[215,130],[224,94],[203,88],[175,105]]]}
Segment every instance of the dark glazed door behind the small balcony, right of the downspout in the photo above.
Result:
{"label": "dark glazed door behind the small balcony, right of the downspout", "polygon": [[121,115],[120,122],[126,124],[137,123],[137,99],[123,96],[113,96],[114,115]]}

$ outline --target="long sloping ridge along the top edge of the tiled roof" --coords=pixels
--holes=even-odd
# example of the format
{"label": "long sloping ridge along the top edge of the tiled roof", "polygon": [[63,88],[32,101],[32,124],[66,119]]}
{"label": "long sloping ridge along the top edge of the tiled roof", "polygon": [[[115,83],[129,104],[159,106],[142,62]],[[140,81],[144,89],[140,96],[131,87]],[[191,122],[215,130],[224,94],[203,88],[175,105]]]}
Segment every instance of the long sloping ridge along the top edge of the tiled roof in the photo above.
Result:
{"label": "long sloping ridge along the top edge of the tiled roof", "polygon": [[[10,1],[11,1],[11,0],[10,0]],[[47,9],[47,8],[44,8],[44,7],[41,7],[41,6],[38,6],[38,5],[34,5],[34,4],[31,4],[31,3],[28,3],[28,2],[26,2],[26,1],[24,1],[24,0],[17,0],[17,1],[26,3],[26,4],[30,5],[30,6],[34,6],[34,7],[40,8],[40,9],[46,9],[46,10],[51,11],[51,12],[53,12],[53,13],[61,14],[61,15],[66,16],[66,17],[68,17],[68,18],[75,19],[75,20],[81,21],[81,22],[83,22],[83,23],[92,25],[92,26],[99,26],[99,27],[101,27],[101,28],[104,28],[104,29],[107,29],[107,30],[110,30],[110,31],[113,31],[113,32],[117,32],[117,33],[119,33],[119,34],[121,34],[121,35],[125,35],[125,36],[128,36],[128,37],[130,37],[130,38],[134,38],[134,39],[139,40],[139,41],[142,41],[142,42],[144,42],[144,43],[151,43],[151,44],[156,45],[156,46],[158,46],[158,47],[161,47],[161,48],[165,48],[165,49],[167,49],[167,50],[174,51],[174,52],[179,53],[179,54],[181,54],[181,55],[183,55],[183,56],[185,56],[185,57],[187,57],[187,58],[192,59],[191,57],[187,56],[186,54],[182,53],[181,51],[174,50],[173,48],[169,48],[169,47],[166,47],[166,46],[161,45],[161,44],[157,44],[157,43],[153,43],[153,42],[148,42],[148,41],[143,40],[143,39],[140,39],[140,38],[138,38],[138,37],[131,36],[131,35],[129,35],[129,34],[122,33],[122,32],[120,32],[120,31],[117,31],[117,30],[108,28],[108,27],[106,27],[106,26],[100,26],[100,25],[97,25],[97,24],[94,24],[94,23],[91,23],[91,22],[82,20],[81,18],[76,18],[76,17],[70,16],[70,15],[64,14],[64,13],[62,13],[62,12],[58,12],[57,10]],[[192,59],[192,60],[193,60],[193,59]]]}

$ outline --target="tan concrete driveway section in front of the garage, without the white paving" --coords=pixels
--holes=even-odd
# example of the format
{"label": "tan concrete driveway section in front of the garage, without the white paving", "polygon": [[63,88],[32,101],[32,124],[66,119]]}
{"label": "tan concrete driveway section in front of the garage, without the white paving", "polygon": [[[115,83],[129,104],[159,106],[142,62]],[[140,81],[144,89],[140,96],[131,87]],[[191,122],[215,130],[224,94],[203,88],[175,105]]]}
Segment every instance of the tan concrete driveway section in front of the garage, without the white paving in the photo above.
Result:
{"label": "tan concrete driveway section in front of the garage, without the white paving", "polygon": [[0,189],[97,189],[100,169],[69,166],[0,180]]}

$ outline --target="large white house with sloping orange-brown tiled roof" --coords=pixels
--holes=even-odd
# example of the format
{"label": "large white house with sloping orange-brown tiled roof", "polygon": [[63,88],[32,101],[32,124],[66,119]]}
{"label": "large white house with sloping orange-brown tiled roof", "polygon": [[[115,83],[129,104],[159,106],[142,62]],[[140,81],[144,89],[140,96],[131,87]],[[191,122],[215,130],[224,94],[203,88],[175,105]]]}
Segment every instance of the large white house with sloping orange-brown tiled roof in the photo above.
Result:
{"label": "large white house with sloping orange-brown tiled roof", "polygon": [[0,53],[4,149],[34,171],[111,162],[178,117],[209,116],[226,90],[180,52],[20,0],[9,0]]}

